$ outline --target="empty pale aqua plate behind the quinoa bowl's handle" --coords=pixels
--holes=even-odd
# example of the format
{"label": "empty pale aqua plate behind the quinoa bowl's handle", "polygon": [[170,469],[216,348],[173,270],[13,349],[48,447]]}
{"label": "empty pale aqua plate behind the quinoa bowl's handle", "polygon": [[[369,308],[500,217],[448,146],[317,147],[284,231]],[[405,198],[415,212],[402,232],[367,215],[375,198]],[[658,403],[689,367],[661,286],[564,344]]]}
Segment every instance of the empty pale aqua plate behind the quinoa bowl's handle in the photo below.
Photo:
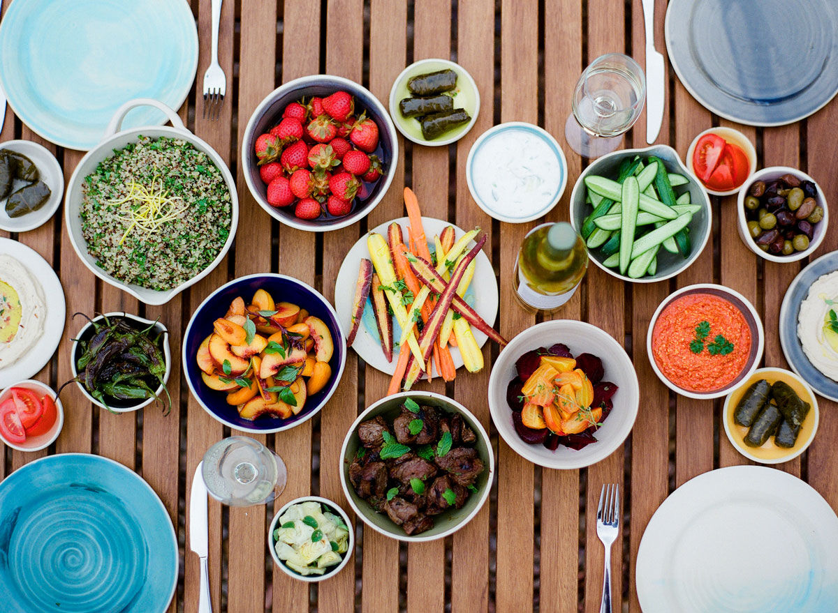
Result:
{"label": "empty pale aqua plate behind the quinoa bowl's handle", "polygon": [[[0,23],[0,84],[15,114],[61,147],[88,150],[127,100],[177,109],[198,68],[198,31],[184,0],[28,0]],[[123,128],[157,126],[160,111]]]}

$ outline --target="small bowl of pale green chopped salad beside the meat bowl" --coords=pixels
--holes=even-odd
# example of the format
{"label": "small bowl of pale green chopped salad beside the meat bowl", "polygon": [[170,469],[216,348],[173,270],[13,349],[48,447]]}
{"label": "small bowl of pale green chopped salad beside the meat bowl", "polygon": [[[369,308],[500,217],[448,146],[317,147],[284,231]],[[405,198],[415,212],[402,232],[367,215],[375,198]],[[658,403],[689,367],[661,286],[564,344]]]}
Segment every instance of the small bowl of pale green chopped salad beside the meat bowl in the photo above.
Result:
{"label": "small bowl of pale green chopped salad beside the meat bowl", "polygon": [[354,549],[352,524],[326,498],[304,496],[279,510],[267,533],[271,557],[285,574],[314,583],[338,574]]}

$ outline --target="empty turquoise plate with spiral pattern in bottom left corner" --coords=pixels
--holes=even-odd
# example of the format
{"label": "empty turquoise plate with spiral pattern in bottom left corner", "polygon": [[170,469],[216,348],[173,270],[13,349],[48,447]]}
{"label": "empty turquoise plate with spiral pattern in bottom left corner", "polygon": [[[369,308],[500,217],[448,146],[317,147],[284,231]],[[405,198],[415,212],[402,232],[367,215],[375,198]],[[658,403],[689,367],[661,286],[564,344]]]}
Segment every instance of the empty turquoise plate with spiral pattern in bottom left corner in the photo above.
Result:
{"label": "empty turquoise plate with spiral pattern in bottom left corner", "polygon": [[4,613],[163,613],[177,580],[163,502],[122,464],[60,454],[0,482]]}

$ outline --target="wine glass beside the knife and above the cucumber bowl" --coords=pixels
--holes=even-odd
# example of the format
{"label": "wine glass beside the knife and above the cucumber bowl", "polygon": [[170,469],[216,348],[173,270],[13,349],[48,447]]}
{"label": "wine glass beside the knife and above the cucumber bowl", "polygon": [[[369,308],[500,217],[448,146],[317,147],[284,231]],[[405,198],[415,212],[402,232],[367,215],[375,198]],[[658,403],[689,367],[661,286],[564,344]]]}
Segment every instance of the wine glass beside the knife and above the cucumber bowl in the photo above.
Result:
{"label": "wine glass beside the knife and above the cucumber bowl", "polygon": [[623,142],[646,100],[643,69],[624,54],[605,54],[591,62],[573,91],[573,112],[565,138],[583,157],[600,157]]}

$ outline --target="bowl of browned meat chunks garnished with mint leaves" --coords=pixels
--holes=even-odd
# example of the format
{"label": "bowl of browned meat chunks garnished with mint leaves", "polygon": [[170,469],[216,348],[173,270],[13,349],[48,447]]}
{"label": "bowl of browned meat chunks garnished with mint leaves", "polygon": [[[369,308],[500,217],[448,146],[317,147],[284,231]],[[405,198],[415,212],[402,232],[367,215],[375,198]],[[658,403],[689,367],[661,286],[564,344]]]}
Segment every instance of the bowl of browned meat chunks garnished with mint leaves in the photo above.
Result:
{"label": "bowl of browned meat chunks garnished with mint leaves", "polygon": [[380,399],[349,428],[340,482],[353,511],[385,536],[444,538],[489,497],[489,435],[462,404],[432,392]]}

